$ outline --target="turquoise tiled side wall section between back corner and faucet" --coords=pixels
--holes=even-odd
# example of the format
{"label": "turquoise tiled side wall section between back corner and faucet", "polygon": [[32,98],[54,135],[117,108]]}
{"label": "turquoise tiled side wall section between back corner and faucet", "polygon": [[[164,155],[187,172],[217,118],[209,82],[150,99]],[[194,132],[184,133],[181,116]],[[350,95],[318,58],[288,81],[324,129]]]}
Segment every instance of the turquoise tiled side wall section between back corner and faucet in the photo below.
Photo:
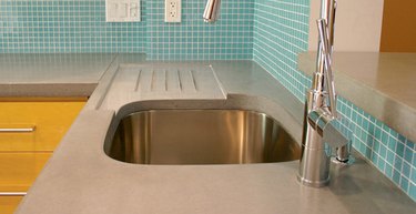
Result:
{"label": "turquoise tiled side wall section between back corner and faucet", "polygon": [[253,59],[298,99],[308,78],[296,70],[307,50],[308,0],[255,0]]}

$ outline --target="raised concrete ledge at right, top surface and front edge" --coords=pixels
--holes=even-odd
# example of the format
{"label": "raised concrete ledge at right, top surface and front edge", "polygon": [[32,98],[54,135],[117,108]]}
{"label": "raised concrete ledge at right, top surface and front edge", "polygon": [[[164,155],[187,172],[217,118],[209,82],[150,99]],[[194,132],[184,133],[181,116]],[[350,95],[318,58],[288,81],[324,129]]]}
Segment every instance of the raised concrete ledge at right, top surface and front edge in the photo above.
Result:
{"label": "raised concrete ledge at right, top surface and front edge", "polygon": [[[298,69],[316,70],[316,52],[302,53]],[[416,53],[334,52],[337,92],[416,142]]]}

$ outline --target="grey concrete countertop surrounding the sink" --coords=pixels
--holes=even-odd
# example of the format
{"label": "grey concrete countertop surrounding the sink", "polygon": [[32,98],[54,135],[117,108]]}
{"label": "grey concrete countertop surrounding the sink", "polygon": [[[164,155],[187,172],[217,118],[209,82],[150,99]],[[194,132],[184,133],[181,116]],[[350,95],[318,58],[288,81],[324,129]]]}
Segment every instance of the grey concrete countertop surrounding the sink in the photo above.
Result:
{"label": "grey concrete countertop surrounding the sink", "polygon": [[[149,108],[263,111],[284,124],[297,141],[301,139],[302,103],[255,62],[152,63],[132,58],[134,63],[129,63],[125,59],[120,57],[108,64],[87,106],[17,213],[413,214],[416,210],[415,202],[359,156],[354,165],[333,167],[332,182],[323,188],[297,183],[297,161],[168,166],[110,159],[103,151],[108,130],[113,130],[123,115]],[[138,71],[146,67],[210,67],[214,74],[211,85],[217,86],[220,93],[205,94],[205,100],[190,99],[194,95],[191,92],[165,90],[155,93],[159,100],[151,100],[143,95],[149,91],[136,85]],[[200,84],[197,75],[194,80]],[[200,86],[195,93],[205,93]],[[158,91],[158,84],[151,89]]]}

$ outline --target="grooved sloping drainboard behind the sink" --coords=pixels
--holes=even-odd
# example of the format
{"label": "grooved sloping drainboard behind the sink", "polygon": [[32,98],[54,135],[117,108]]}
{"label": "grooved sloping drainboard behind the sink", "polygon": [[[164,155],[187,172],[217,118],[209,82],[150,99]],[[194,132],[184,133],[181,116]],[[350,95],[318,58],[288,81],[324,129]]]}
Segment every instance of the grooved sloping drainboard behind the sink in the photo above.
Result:
{"label": "grooved sloping drainboard behind the sink", "polygon": [[[123,71],[131,70],[130,68]],[[119,85],[146,99],[225,99],[214,71],[205,68],[133,68],[121,73]],[[120,78],[120,77],[119,77]],[[126,84],[128,83],[128,84]],[[132,96],[133,98],[133,96]]]}

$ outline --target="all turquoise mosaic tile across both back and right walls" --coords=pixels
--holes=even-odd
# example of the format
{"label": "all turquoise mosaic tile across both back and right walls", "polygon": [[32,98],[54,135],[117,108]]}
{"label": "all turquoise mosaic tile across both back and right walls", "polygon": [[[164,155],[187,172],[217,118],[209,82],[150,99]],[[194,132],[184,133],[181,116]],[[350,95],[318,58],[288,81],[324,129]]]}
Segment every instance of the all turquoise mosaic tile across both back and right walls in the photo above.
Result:
{"label": "all turquoise mosaic tile across both back and right walls", "polygon": [[[151,60],[253,59],[297,99],[311,79],[310,0],[226,0],[221,20],[202,21],[205,0],[182,1],[182,23],[163,22],[164,0],[141,1],[142,22],[106,23],[104,0],[0,0],[0,53],[134,52]],[[353,146],[416,201],[416,144],[339,98],[339,128]]]}

